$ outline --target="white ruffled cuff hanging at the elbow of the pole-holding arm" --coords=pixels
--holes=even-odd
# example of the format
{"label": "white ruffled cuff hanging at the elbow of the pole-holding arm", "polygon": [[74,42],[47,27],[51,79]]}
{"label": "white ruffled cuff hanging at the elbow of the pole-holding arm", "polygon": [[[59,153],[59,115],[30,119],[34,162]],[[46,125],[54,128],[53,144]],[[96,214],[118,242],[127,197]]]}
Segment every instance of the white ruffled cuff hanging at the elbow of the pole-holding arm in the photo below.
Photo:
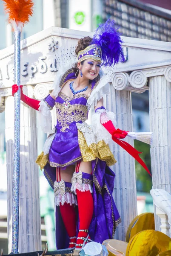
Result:
{"label": "white ruffled cuff hanging at the elbow of the pole-holding arm", "polygon": [[51,122],[52,122],[52,118],[51,118],[51,112],[48,108],[48,106],[46,105],[46,103],[41,100],[41,102],[39,103],[40,107],[39,107],[39,113],[40,113],[40,126],[42,128],[42,131],[48,134],[51,134],[52,129],[51,129]]}

